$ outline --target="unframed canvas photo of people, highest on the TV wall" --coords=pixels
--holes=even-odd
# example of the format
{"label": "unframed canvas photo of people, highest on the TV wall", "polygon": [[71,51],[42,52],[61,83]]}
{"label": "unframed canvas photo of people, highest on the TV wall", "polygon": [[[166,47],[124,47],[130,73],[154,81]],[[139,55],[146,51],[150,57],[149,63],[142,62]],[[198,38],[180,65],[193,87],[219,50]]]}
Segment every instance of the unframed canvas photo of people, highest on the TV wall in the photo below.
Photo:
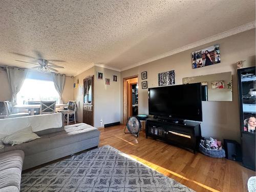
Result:
{"label": "unframed canvas photo of people, highest on the TV wall", "polygon": [[205,49],[195,51],[192,56],[192,68],[211,66],[221,62],[220,46],[214,45]]}

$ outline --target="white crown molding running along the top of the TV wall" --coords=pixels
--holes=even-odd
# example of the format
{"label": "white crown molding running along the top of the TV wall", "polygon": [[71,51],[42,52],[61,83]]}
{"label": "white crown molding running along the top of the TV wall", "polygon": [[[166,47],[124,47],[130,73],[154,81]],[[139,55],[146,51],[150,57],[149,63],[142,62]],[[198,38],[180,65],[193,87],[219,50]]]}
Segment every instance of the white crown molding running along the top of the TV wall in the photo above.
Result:
{"label": "white crown molding running along the top of the TV wall", "polygon": [[222,39],[222,38],[231,36],[231,35],[235,35],[235,34],[244,32],[244,31],[248,31],[248,30],[253,29],[253,28],[255,28],[255,20],[254,20],[253,22],[250,22],[250,23],[241,25],[241,26],[239,26],[239,27],[230,29],[230,30],[228,30],[228,31],[224,31],[224,32],[222,32],[222,33],[219,33],[219,34],[216,34],[216,35],[212,35],[212,36],[207,37],[207,38],[204,38],[204,39],[202,39],[202,40],[193,42],[193,43],[191,43],[191,44],[188,44],[188,45],[186,45],[186,46],[180,47],[180,48],[178,48],[178,49],[174,49],[174,50],[172,50],[172,51],[168,51],[168,52],[166,52],[166,53],[157,55],[157,56],[155,56],[155,57],[151,57],[151,58],[142,60],[142,61],[140,61],[140,62],[134,63],[134,64],[131,65],[131,66],[127,66],[127,67],[121,68],[121,71],[125,71],[125,70],[128,70],[128,69],[132,69],[132,68],[135,68],[135,67],[144,65],[145,63],[152,62],[152,61],[155,61],[155,60],[164,58],[164,57],[168,57],[168,56],[170,56],[170,55],[174,55],[174,54],[177,54],[177,53],[180,53],[180,52],[189,50],[189,49],[193,49],[193,48],[202,46],[202,45],[204,45],[204,44],[208,44],[209,42],[216,41],[216,40],[219,40],[219,39]]}

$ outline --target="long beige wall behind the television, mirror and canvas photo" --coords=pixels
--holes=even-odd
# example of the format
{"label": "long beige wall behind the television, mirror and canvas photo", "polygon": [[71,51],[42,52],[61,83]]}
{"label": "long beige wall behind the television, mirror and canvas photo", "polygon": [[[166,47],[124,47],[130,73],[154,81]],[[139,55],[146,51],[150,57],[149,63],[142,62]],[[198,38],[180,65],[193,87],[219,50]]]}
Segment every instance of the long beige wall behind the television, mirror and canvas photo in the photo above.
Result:
{"label": "long beige wall behind the television, mirror and canvas photo", "polygon": [[[220,44],[221,63],[192,69],[191,52]],[[233,81],[233,101],[203,102],[202,136],[240,141],[238,85],[235,63],[246,60],[244,67],[255,65],[255,29],[226,37],[195,49],[168,56],[145,65],[122,71],[121,79],[139,74],[139,114],[148,114],[147,89],[141,89],[141,72],[147,71],[148,88],[158,87],[158,73],[175,70],[175,83],[182,84],[183,77],[199,76],[231,71]],[[123,85],[120,84],[121,121],[123,113]]]}

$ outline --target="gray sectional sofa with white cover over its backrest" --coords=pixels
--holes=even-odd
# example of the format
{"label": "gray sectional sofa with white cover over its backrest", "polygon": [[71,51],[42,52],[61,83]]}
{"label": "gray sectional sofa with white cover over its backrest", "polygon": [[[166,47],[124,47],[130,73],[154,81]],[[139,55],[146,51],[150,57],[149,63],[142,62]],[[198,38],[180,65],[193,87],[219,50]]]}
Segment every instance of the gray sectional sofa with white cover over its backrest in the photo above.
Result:
{"label": "gray sectional sofa with white cover over its backrest", "polygon": [[[61,113],[0,119],[0,139],[28,126],[32,127],[32,131],[40,137],[39,139],[0,148],[0,191],[3,187],[1,183],[4,183],[5,179],[10,180],[1,175],[1,170],[7,173],[5,165],[1,162],[6,161],[5,154],[8,154],[8,157],[13,153],[14,156],[20,154],[18,159],[22,159],[22,169],[25,170],[97,147],[99,144],[98,129],[85,123],[64,126]],[[22,169],[20,168],[20,173]]]}

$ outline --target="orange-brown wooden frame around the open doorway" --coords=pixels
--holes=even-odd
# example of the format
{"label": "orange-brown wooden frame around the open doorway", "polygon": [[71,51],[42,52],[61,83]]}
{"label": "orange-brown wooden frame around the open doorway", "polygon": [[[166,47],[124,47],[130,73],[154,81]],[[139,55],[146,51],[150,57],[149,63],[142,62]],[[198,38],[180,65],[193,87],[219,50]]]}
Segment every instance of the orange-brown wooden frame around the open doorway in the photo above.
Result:
{"label": "orange-brown wooden frame around the open doorway", "polygon": [[[138,78],[138,83],[139,83],[139,75],[133,75],[130,77],[125,77],[123,78],[123,125],[126,125],[127,119],[128,119],[128,108],[127,108],[127,83],[126,80],[128,79],[133,79],[133,78]],[[138,89],[138,97],[139,97],[139,89]],[[139,100],[138,100],[138,109],[139,109]]]}

